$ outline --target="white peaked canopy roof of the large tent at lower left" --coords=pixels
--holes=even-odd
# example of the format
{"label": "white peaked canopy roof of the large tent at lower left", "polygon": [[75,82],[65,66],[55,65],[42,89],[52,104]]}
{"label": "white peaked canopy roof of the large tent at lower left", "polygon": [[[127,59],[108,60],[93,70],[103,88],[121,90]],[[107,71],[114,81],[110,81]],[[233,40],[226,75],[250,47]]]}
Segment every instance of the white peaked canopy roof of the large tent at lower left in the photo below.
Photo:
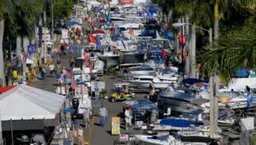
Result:
{"label": "white peaked canopy roof of the large tent at lower left", "polygon": [[55,119],[65,97],[53,92],[20,85],[0,94],[1,120]]}

